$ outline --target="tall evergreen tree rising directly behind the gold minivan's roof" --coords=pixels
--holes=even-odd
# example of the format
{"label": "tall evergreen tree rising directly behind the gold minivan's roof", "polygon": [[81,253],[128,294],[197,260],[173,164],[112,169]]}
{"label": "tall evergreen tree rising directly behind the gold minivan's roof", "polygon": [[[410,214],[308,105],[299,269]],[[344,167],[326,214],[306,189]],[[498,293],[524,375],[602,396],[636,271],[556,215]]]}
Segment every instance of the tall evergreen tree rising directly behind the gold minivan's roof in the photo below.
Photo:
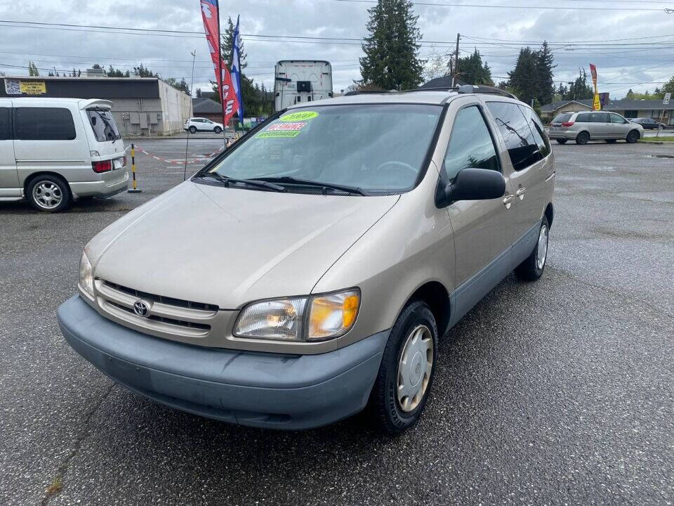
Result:
{"label": "tall evergreen tree rising directly behind the gold minivan's roof", "polygon": [[362,85],[382,89],[413,89],[421,84],[418,58],[421,32],[409,0],[378,0],[369,8],[368,36],[360,58]]}

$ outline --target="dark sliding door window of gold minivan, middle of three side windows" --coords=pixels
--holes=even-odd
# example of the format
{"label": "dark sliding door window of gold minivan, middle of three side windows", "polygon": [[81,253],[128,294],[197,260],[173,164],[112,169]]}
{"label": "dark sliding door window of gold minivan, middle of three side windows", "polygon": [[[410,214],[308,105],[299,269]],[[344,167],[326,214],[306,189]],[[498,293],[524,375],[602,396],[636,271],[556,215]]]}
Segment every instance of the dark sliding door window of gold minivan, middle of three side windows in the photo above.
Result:
{"label": "dark sliding door window of gold minivan, middle of three side windows", "polygon": [[515,103],[487,102],[496,125],[505,140],[515,170],[526,169],[543,157],[531,134],[527,118]]}

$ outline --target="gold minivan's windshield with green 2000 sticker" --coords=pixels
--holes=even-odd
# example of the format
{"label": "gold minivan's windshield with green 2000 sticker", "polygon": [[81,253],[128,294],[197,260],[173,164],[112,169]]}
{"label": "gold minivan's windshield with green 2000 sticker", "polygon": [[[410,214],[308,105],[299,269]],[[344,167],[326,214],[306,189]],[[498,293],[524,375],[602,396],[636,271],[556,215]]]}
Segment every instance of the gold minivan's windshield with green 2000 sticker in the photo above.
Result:
{"label": "gold minivan's windshield with green 2000 sticker", "polygon": [[249,134],[209,172],[271,179],[289,191],[293,181],[367,193],[411,190],[441,113],[439,105],[419,104],[291,109]]}

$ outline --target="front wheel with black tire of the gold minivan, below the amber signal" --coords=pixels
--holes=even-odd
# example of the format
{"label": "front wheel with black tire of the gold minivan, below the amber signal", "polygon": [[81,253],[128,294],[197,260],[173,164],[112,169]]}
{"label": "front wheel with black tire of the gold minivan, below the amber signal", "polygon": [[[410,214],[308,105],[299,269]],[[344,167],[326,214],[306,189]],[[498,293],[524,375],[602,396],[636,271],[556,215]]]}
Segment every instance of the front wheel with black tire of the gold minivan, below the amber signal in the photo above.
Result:
{"label": "front wheel with black tire of the gold minivan, below the amber signal", "polygon": [[423,301],[404,307],[393,325],[370,394],[378,429],[395,435],[414,425],[432,387],[437,356],[437,325]]}

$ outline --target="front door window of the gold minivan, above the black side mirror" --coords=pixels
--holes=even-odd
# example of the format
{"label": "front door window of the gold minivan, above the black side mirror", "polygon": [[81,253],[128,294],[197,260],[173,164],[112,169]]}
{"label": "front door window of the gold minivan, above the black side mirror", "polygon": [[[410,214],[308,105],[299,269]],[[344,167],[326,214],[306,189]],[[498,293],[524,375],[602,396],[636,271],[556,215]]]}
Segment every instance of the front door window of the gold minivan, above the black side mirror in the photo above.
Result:
{"label": "front door window of the gold minivan, above the black side mirror", "polygon": [[442,166],[443,180],[449,183],[461,169],[501,170],[494,140],[477,105],[461,109],[454,119]]}

